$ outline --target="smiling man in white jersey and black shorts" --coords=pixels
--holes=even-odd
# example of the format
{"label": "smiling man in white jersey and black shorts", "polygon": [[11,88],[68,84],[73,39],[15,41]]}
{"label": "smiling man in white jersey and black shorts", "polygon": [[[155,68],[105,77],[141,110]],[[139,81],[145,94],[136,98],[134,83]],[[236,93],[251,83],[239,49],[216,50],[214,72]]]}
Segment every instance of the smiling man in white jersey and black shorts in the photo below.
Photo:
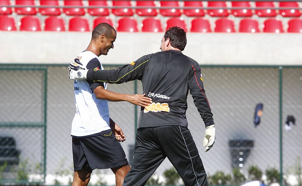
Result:
{"label": "smiling man in white jersey and black shorts", "polygon": [[[87,49],[77,57],[87,69],[101,69],[100,55],[113,48],[116,31],[101,23],[92,31]],[[74,81],[76,114],[71,127],[74,177],[72,186],[86,186],[94,169],[108,169],[121,186],[130,166],[120,142],[126,138],[121,128],[110,118],[108,102],[128,101],[148,106],[152,101],[144,95],[118,94],[107,90],[107,83],[88,80]]]}

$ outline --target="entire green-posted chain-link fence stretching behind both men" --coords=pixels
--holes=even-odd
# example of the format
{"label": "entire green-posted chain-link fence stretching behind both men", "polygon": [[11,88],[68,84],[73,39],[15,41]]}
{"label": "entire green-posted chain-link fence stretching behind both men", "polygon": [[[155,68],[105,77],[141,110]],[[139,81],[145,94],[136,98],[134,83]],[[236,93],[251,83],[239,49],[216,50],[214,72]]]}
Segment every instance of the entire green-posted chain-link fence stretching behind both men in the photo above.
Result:
{"label": "entire green-posted chain-link fence stretching behind both men", "polygon": [[[284,184],[299,184],[302,66],[201,66],[201,71],[217,132],[214,148],[209,152],[204,152],[204,123],[190,95],[186,115],[209,177],[218,171],[233,176],[237,168],[246,180],[224,184],[243,184],[250,179],[251,167],[256,166],[262,175],[275,168],[277,179],[283,172]],[[26,182],[44,182],[44,175],[57,181],[60,176],[67,176],[70,182],[73,174],[70,129],[75,105],[67,65],[2,65],[0,87],[1,182],[21,181],[22,174],[22,181]],[[108,90],[143,93],[140,81],[110,84]],[[255,126],[253,117],[258,103],[263,104],[263,115]],[[139,109],[126,102],[109,103],[111,118],[126,134],[122,146],[130,162]],[[290,122],[285,127],[288,116],[295,118],[295,125]],[[13,163],[9,163],[10,159]],[[163,175],[171,167],[166,159],[155,174]],[[112,174],[111,170],[101,173]]]}

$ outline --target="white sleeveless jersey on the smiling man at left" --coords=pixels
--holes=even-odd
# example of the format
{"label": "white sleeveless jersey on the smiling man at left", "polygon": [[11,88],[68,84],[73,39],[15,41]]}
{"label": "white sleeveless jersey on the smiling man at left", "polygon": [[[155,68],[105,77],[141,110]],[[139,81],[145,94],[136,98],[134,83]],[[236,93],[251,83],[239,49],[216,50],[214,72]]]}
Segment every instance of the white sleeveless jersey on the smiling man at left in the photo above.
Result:
{"label": "white sleeveless jersey on the smiling man at left", "polygon": [[[91,61],[94,64],[99,63],[97,65],[101,70],[104,69],[99,57],[91,51],[83,51],[78,55],[78,59],[87,69],[89,69],[87,64]],[[107,89],[107,83],[104,83],[104,88]],[[72,121],[71,135],[86,136],[111,129],[108,102],[97,99],[86,80],[74,81],[74,97],[77,110]]]}

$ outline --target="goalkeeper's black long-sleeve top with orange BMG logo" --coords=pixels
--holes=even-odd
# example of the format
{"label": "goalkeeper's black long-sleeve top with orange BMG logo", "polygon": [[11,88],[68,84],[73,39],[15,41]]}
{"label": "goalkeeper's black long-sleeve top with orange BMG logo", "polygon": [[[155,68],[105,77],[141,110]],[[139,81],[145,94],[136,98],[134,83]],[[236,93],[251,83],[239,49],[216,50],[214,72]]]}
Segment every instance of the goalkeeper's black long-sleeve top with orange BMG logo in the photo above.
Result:
{"label": "goalkeeper's black long-sleeve top with orange BMG logo", "polygon": [[139,127],[164,125],[187,126],[187,95],[190,91],[194,104],[205,126],[214,125],[210,104],[205,95],[198,63],[181,51],[168,50],[144,55],[118,69],[89,70],[87,80],[124,83],[141,80],[143,92],[153,103],[141,108]]}

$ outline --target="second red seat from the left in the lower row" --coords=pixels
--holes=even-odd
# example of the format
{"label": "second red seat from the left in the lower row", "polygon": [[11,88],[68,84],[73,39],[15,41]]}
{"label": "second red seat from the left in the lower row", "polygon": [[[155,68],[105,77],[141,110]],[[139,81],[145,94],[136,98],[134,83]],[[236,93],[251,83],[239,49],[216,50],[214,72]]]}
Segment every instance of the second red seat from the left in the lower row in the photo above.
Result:
{"label": "second red seat from the left in the lower row", "polygon": [[22,17],[20,23],[21,31],[41,31],[41,23],[36,16]]}

